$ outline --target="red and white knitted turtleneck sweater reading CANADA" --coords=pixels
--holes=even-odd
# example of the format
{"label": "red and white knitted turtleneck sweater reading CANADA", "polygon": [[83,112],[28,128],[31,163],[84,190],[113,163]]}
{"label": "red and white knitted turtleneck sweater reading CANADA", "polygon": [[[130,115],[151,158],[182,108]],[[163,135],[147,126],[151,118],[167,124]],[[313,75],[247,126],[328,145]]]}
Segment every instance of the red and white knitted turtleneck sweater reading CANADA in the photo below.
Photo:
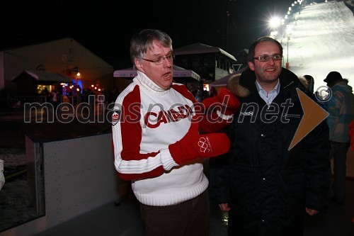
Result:
{"label": "red and white knitted turtleneck sweater reading CANADA", "polygon": [[112,120],[115,169],[132,180],[139,202],[171,206],[207,189],[202,159],[178,165],[169,152],[188,132],[195,102],[183,84],[164,90],[142,72],[118,96]]}

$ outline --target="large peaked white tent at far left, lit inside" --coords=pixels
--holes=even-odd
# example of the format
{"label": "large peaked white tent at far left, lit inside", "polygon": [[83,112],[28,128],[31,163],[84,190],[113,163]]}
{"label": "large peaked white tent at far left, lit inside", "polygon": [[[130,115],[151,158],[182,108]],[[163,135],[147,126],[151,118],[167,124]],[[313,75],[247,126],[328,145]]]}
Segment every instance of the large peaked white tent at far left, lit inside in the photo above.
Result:
{"label": "large peaked white tent at far left, lit inside", "polygon": [[[38,71],[36,69],[42,69]],[[23,71],[26,72],[23,72]],[[72,72],[80,72],[80,75]],[[89,49],[72,38],[62,38],[44,43],[15,47],[0,51],[0,90],[16,91],[13,77],[23,72],[28,77],[43,80],[62,80],[68,77],[89,87],[99,82],[100,86],[112,86],[114,68]],[[59,73],[48,74],[48,73]],[[56,78],[56,79],[55,79]],[[66,79],[64,79],[66,80]],[[64,81],[69,83],[69,80]]]}

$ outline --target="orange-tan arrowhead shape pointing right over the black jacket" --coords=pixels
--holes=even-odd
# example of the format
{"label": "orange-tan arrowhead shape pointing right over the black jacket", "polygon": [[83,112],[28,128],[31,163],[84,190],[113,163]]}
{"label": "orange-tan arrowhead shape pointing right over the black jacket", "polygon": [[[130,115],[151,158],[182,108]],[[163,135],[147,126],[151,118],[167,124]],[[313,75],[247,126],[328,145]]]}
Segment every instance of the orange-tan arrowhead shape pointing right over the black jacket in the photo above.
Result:
{"label": "orange-tan arrowhead shape pointing right over the black jacket", "polygon": [[322,120],[326,119],[329,116],[329,113],[321,108],[314,100],[310,99],[309,96],[304,94],[303,91],[296,89],[297,95],[299,96],[302,111],[304,111],[304,116],[297,127],[296,133],[292,138],[290,147],[288,150],[291,150],[292,147],[297,145],[307,134],[309,134],[314,128],[316,128]]}

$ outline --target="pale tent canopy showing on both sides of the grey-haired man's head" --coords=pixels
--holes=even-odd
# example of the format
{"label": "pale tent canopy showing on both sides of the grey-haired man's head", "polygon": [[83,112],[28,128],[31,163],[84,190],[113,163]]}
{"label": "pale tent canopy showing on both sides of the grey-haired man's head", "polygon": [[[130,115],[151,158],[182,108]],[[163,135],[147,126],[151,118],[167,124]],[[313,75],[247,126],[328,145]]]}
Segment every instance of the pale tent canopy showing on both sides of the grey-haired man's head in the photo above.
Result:
{"label": "pale tent canopy showing on both sides of the grey-haired man's head", "polygon": [[[137,76],[137,69],[133,67],[129,67],[126,69],[118,69],[113,73],[113,77],[126,77],[126,78],[134,78]],[[191,69],[184,69],[182,67],[178,67],[173,65],[173,78],[192,78],[197,81],[200,81],[199,74],[193,72]]]}

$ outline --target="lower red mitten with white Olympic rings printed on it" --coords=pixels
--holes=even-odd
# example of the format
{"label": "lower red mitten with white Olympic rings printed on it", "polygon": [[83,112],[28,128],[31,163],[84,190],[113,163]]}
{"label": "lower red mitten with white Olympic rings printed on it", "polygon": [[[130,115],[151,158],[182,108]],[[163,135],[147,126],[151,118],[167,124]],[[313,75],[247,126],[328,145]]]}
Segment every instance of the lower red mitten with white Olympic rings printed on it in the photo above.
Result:
{"label": "lower red mitten with white Olympic rings printed on it", "polygon": [[230,140],[224,133],[199,135],[198,123],[193,122],[185,136],[169,145],[171,156],[177,164],[183,164],[196,158],[216,157],[228,152]]}

